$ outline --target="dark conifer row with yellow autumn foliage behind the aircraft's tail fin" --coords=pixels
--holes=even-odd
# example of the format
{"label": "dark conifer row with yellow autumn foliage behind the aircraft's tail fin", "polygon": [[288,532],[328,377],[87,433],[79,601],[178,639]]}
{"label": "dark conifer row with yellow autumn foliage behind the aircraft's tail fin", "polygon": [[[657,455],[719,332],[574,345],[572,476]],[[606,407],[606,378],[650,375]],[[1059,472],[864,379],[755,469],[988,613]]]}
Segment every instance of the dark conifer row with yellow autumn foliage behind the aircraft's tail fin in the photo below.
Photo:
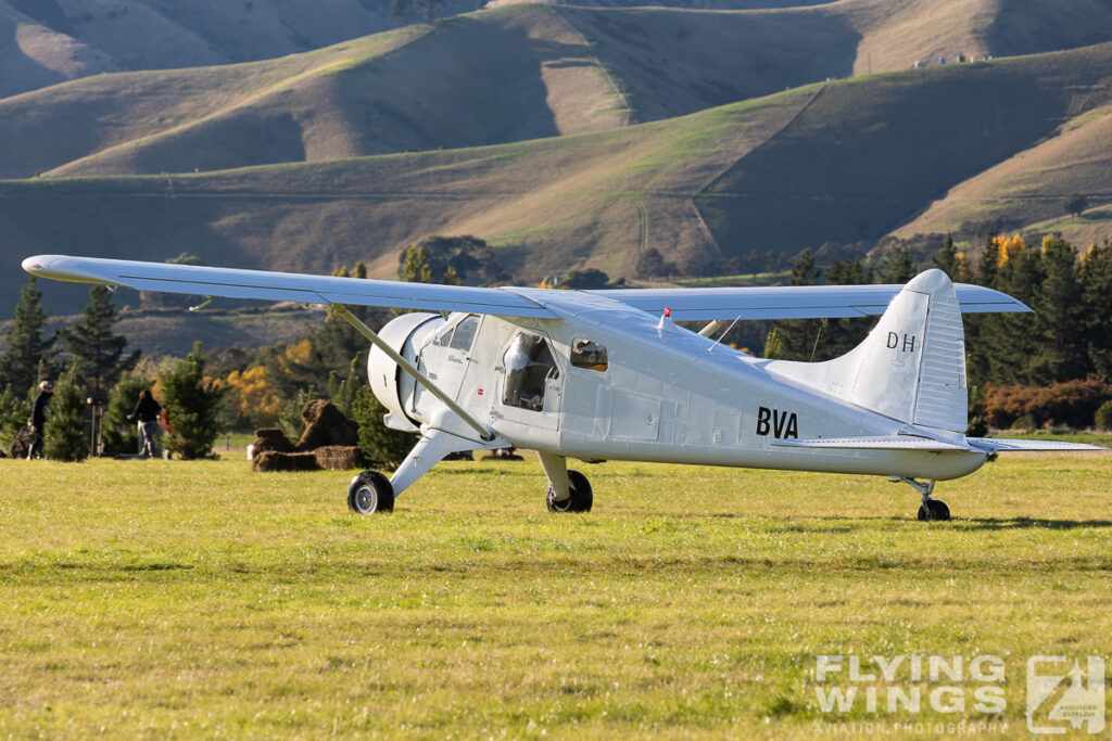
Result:
{"label": "dark conifer row with yellow autumn foliage behind the aircraft's tail fin", "polygon": [[[944,270],[955,282],[1007,293],[1034,310],[964,316],[974,413],[987,414],[993,427],[1094,423],[1096,411],[1112,395],[1108,383],[1112,379],[1112,242],[1079,250],[1061,234],[1034,244],[1020,234],[992,234],[973,260],[947,236],[931,267]],[[878,269],[862,259],[834,262],[825,269],[825,279],[831,284],[903,283],[917,271],[909,254],[896,249]],[[822,276],[810,251],[804,251],[793,266],[791,282],[811,286]],[[835,358],[856,347],[872,323],[857,319],[778,321],[768,332],[764,354],[804,361]],[[1112,414],[1112,407],[1106,409],[1102,420]]]}

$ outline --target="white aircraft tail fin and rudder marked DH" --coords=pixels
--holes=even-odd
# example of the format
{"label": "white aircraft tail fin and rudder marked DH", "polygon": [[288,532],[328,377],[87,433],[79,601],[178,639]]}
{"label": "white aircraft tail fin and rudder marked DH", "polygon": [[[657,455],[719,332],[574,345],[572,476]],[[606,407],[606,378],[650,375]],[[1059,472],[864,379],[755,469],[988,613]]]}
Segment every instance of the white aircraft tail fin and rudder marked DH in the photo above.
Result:
{"label": "white aircraft tail fin and rudder marked DH", "polygon": [[952,432],[969,425],[961,304],[941,270],[904,286],[865,341],[841,358],[766,369],[901,422]]}

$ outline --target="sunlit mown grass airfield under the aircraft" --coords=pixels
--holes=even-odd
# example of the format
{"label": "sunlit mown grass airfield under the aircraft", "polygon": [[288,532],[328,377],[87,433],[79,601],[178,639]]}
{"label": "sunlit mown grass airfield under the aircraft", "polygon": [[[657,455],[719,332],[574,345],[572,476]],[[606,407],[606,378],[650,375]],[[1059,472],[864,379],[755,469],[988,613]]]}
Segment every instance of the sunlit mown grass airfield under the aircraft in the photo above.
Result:
{"label": "sunlit mown grass airfield under the aircraft", "polygon": [[[350,474],[2,461],[0,734],[807,737],[815,655],[1109,653],[1112,457],[1013,457],[914,521],[882,479],[445,463]],[[868,717],[872,718],[872,717]],[[924,711],[896,720],[981,719]]]}

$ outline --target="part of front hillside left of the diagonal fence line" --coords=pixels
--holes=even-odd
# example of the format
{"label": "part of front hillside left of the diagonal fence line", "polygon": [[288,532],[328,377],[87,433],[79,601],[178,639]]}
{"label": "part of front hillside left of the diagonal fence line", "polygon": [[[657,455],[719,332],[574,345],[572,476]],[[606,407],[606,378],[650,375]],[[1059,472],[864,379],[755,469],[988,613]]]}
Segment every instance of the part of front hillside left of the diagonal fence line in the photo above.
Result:
{"label": "part of front hillside left of the diagonal fence line", "polygon": [[[393,277],[398,250],[411,241],[476,233],[502,248],[520,280],[578,263],[620,276],[648,244],[684,259],[714,253],[691,194],[813,94],[490,148],[211,174],[2,182],[0,256],[16,268],[21,256],[43,251],[155,260],[189,251],[209,264],[326,273],[364,259],[373,273]],[[14,297],[22,277],[9,271],[4,280],[3,293]]]}

